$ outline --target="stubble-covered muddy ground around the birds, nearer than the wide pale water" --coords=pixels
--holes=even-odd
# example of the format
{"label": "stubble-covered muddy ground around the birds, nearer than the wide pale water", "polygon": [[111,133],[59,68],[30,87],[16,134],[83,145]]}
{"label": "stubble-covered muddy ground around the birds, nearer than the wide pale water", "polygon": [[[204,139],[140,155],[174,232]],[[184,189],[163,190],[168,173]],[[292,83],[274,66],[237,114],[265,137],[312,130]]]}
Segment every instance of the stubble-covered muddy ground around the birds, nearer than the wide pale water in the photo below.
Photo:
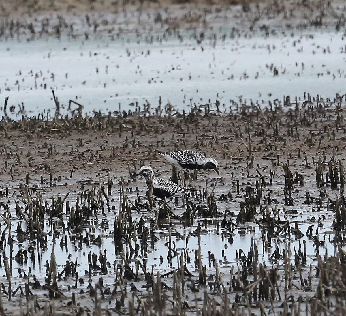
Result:
{"label": "stubble-covered muddy ground around the birds, nearer than the wide pale water", "polygon": [[[8,239],[10,249],[18,243],[30,253],[27,243],[37,248],[39,257],[46,252],[50,256],[49,242],[53,238],[54,245],[61,239],[60,247],[66,247],[66,256],[70,255],[66,264],[56,265],[61,258],[53,254],[47,260],[46,278],[38,278],[30,272],[37,267],[26,269],[27,262],[35,261],[35,254],[25,258],[26,254],[5,250],[1,315],[266,315],[271,310],[285,315],[300,315],[302,310],[308,315],[343,315],[344,300],[339,296],[345,284],[345,220],[337,219],[337,214],[344,218],[345,210],[343,197],[336,197],[344,184],[346,124],[342,104],[341,98],[333,104],[314,99],[290,108],[273,105],[272,111],[243,105],[221,114],[206,106],[189,114],[170,109],[160,117],[96,114],[49,122],[3,121],[2,219],[6,222],[6,214],[11,217],[12,237],[2,225],[1,246],[6,247]],[[144,164],[150,164],[156,176],[172,175],[172,167],[155,156],[155,149],[201,150],[215,157],[220,167],[220,177],[212,170],[200,170],[197,180],[192,181],[185,173],[181,180],[200,193],[186,196],[185,203],[180,197],[169,203],[170,225],[162,203],[156,201],[153,210],[148,209],[143,179],[131,177]],[[321,173],[317,185],[316,175]],[[101,192],[109,184],[112,190],[106,199]],[[59,196],[70,193],[66,201],[77,210],[82,203],[77,197],[84,194],[85,206],[91,192],[95,192],[91,204],[96,203],[97,208],[79,224],[71,220],[72,208],[65,207],[64,201],[54,204]],[[136,208],[124,204],[124,200],[121,204],[127,197],[141,209],[143,227],[139,218],[132,218]],[[186,204],[186,199],[192,203]],[[15,210],[14,201],[22,205],[22,212]],[[29,219],[30,212],[39,210],[35,201],[45,205],[42,221],[47,221],[48,227],[30,232],[31,225],[37,229]],[[88,198],[88,205],[90,201]],[[119,202],[122,206],[118,212]],[[83,203],[80,207],[83,209]],[[84,211],[88,212],[89,206]],[[120,235],[114,218],[120,226],[125,221]],[[19,232],[17,225],[23,220],[27,222],[26,231]],[[151,228],[145,228],[149,223],[153,223]],[[90,227],[101,227],[100,243]],[[190,227],[190,233],[181,234],[182,227]],[[306,227],[311,227],[307,236]],[[325,232],[319,234],[319,229]],[[255,230],[260,230],[262,237],[256,237]],[[228,257],[231,261],[227,261],[216,248],[201,242],[206,234],[217,236],[225,252],[233,247],[233,237],[238,234],[254,239],[233,249],[237,257]],[[155,262],[147,260],[158,242],[155,235],[167,241],[161,253],[167,253],[171,268],[161,272],[160,268],[155,272]],[[73,247],[67,251],[64,236],[72,240],[75,251],[87,254],[90,243],[99,245],[100,253],[92,249],[92,260],[77,255],[77,261]],[[198,239],[195,250],[187,246],[188,239],[194,237]],[[118,257],[102,247],[107,238],[114,240]],[[185,249],[170,251],[171,238],[176,243],[186,238]],[[146,243],[151,244],[149,252]],[[333,254],[327,255],[327,244],[338,251],[336,257],[328,258]],[[119,247],[124,250],[119,251]],[[207,249],[207,257],[201,256],[203,249]],[[16,263],[20,266],[16,268],[18,273],[10,272]],[[83,275],[80,267],[88,265]]]}

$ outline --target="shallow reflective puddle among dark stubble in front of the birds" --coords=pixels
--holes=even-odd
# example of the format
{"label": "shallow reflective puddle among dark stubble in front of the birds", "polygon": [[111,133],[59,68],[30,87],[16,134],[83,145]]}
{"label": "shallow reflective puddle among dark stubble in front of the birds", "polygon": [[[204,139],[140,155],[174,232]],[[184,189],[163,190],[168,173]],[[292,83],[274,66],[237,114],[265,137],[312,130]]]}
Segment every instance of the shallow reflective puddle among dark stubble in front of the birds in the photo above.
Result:
{"label": "shallow reflective puddle among dark stubble in front of the birds", "polygon": [[[301,207],[296,207],[292,209],[300,209]],[[176,211],[179,212],[177,209]],[[305,213],[305,214],[304,214]],[[270,259],[272,252],[276,249],[276,247],[279,247],[279,251],[282,254],[282,251],[284,249],[287,249],[288,246],[291,248],[291,260],[292,263],[294,262],[294,248],[298,252],[299,249],[299,241],[301,243],[301,247],[303,250],[303,240],[306,241],[306,250],[307,250],[307,264],[313,264],[313,262],[316,262],[316,247],[313,243],[312,239],[309,239],[305,233],[309,227],[309,225],[313,228],[313,235],[315,235],[318,223],[317,221],[309,223],[308,219],[311,218],[312,214],[307,214],[306,212],[302,212],[302,215],[288,215],[288,218],[285,217],[285,220],[291,221],[291,227],[292,223],[295,220],[299,221],[299,229],[304,234],[302,238],[295,239],[295,235],[291,233],[291,238],[288,238],[288,235],[285,233],[280,234],[278,237],[269,237],[266,235],[266,239],[268,241],[269,247],[268,251],[264,249],[263,240],[261,237],[261,231],[257,227],[256,224],[245,224],[240,225],[238,228],[234,229],[233,231],[230,231],[228,229],[222,229],[220,227],[219,230],[216,228],[215,222],[210,222],[210,219],[208,219],[209,224],[207,226],[204,226],[204,220],[195,219],[195,223],[193,227],[183,227],[179,223],[175,223],[172,226],[172,243],[173,243],[173,249],[175,249],[179,254],[183,254],[183,249],[185,249],[186,253],[191,258],[191,263],[186,263],[186,267],[190,271],[194,271],[194,262],[195,262],[195,256],[194,251],[199,248],[199,241],[198,236],[193,235],[193,231],[196,228],[197,223],[201,224],[202,230],[205,230],[204,233],[200,235],[200,247],[201,247],[201,255],[202,255],[202,264],[207,266],[208,270],[213,270],[213,265],[209,264],[209,251],[215,255],[215,261],[219,264],[220,268],[226,268],[230,269],[232,266],[242,266],[242,261],[239,259],[236,259],[237,253],[239,252],[239,249],[242,249],[243,252],[245,252],[245,255],[247,256],[247,252],[249,251],[249,247],[251,246],[253,240],[255,240],[256,245],[258,247],[258,264],[265,263],[266,265],[274,264],[283,264],[283,258],[280,260],[272,260]],[[140,216],[137,215],[133,217],[133,220],[135,222],[138,222],[140,219]],[[333,215],[331,215],[333,216]],[[282,217],[282,216],[280,216]],[[144,213],[144,218],[146,219],[146,225],[148,224],[148,221],[151,221],[152,214],[146,214]],[[92,237],[97,238],[98,236],[102,237],[102,245],[98,247],[97,245],[92,244],[91,242],[87,245],[83,243],[82,248],[79,247],[79,242],[76,240],[76,235],[71,233],[69,230],[66,230],[65,233],[61,234],[59,237],[56,237],[55,239],[55,245],[53,242],[53,236],[49,232],[52,232],[51,227],[48,225],[48,221],[45,221],[45,225],[43,228],[43,232],[47,233],[47,250],[42,251],[41,249],[38,251],[37,247],[35,246],[35,242],[15,242],[13,245],[13,251],[10,253],[10,246],[9,244],[4,247],[3,255],[6,255],[10,258],[11,266],[13,268],[13,275],[12,277],[18,277],[19,276],[19,270],[18,268],[23,269],[23,271],[26,271],[28,273],[28,269],[31,269],[31,273],[35,275],[37,278],[45,278],[46,277],[46,267],[44,266],[46,264],[46,261],[50,262],[51,259],[51,253],[52,249],[54,248],[55,257],[56,257],[56,264],[57,264],[57,271],[61,272],[64,269],[64,266],[66,264],[66,261],[73,261],[77,259],[78,262],[78,268],[77,272],[79,275],[83,275],[84,271],[88,271],[88,253],[91,251],[91,253],[95,253],[99,255],[100,251],[106,250],[107,251],[107,260],[112,264],[114,263],[121,263],[121,258],[118,257],[115,253],[115,247],[114,247],[114,238],[113,238],[113,225],[114,225],[114,218],[112,219],[110,216],[107,216],[104,218],[106,222],[108,222],[109,226],[107,229],[100,228],[101,221],[96,222],[95,220],[89,221],[86,223],[84,230],[83,230],[83,236],[86,236],[86,232]],[[222,219],[219,219],[219,223],[221,223]],[[283,218],[281,218],[283,220]],[[302,222],[303,221],[303,222]],[[17,227],[17,222],[15,218],[12,218],[12,231],[15,227]],[[58,223],[56,223],[57,225]],[[293,228],[293,227],[292,227]],[[319,240],[326,240],[324,247],[319,248],[319,253],[321,255],[324,255],[325,253],[328,253],[329,255],[334,254],[334,245],[333,243],[328,242],[328,238],[333,238],[334,233],[331,232],[333,228],[331,227],[331,219],[327,219],[327,221],[324,223],[323,227],[319,228]],[[181,238],[176,238],[176,232],[182,235]],[[179,267],[178,257],[173,257],[172,262],[170,263],[167,258],[167,251],[168,248],[165,246],[165,244],[169,241],[169,232],[167,225],[161,225],[160,228],[157,227],[157,229],[154,230],[155,236],[158,237],[158,241],[155,242],[154,247],[152,248],[150,245],[150,242],[148,243],[148,255],[146,258],[143,258],[141,256],[140,250],[138,251],[138,255],[133,253],[131,255],[131,259],[133,259],[133,262],[131,264],[131,267],[133,267],[133,270],[135,271],[135,260],[139,260],[140,262],[144,263],[146,261],[146,266],[148,270],[151,270],[151,266],[154,265],[154,272],[160,271],[161,274],[164,274],[165,272],[171,271],[172,269]],[[266,233],[267,234],[267,233]],[[330,235],[331,234],[331,235]],[[15,232],[12,233],[12,235],[16,235]],[[67,236],[67,249],[64,246],[65,242],[65,236]],[[186,245],[186,237],[189,237],[188,241],[188,247],[185,248]],[[228,238],[233,237],[233,243],[230,243]],[[6,239],[8,238],[6,234]],[[17,240],[17,238],[15,238]],[[60,242],[63,242],[63,245],[60,246]],[[137,239],[137,244],[139,245],[140,249],[140,239]],[[175,244],[175,245],[174,245]],[[14,260],[14,256],[17,254],[19,249],[25,250],[28,249],[29,245],[34,245],[34,253],[35,253],[35,260],[31,261],[30,258],[28,258],[27,264],[18,264]],[[135,248],[134,242],[132,244],[133,248]],[[270,248],[272,246],[272,248]],[[222,251],[224,251],[224,255],[222,255]],[[130,249],[126,246],[124,249],[125,253],[130,254]],[[28,254],[29,256],[29,254]],[[162,263],[160,262],[160,256],[162,256]],[[112,267],[111,269],[112,270]],[[4,275],[4,270],[0,269],[1,275]]]}

